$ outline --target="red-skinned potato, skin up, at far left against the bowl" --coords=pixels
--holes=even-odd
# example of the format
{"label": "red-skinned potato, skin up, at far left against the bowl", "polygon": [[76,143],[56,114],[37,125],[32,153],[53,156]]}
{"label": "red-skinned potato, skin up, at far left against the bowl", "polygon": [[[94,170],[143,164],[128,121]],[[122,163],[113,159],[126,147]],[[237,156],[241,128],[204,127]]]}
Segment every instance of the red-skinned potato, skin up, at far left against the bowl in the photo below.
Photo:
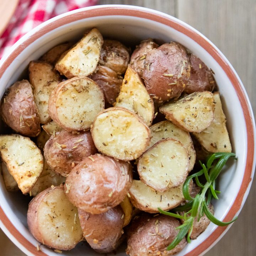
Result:
{"label": "red-skinned potato, skin up, at far left against the bowl", "polygon": [[15,82],[6,92],[1,105],[5,123],[15,132],[36,137],[41,130],[38,110],[31,84],[27,80]]}

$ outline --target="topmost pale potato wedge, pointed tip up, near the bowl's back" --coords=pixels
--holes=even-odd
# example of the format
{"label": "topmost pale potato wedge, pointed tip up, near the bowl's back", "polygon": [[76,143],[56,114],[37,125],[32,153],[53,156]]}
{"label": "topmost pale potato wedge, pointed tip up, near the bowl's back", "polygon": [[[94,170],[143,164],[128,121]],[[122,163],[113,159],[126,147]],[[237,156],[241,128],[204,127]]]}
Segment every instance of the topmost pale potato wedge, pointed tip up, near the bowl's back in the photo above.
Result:
{"label": "topmost pale potato wedge, pointed tip up, near the bowl's back", "polygon": [[100,59],[103,38],[97,28],[87,32],[68,52],[65,52],[55,68],[67,78],[88,76],[94,72]]}

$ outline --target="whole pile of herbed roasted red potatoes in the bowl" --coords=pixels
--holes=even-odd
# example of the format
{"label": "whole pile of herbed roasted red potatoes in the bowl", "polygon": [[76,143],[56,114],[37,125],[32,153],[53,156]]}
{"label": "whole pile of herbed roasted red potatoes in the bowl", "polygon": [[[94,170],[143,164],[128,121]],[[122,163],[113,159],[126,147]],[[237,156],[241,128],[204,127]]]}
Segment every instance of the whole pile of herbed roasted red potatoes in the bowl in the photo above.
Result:
{"label": "whole pile of herbed roasted red potatoes in the bowl", "polygon": [[[106,253],[126,238],[130,256],[182,250],[186,239],[166,250],[181,223],[158,208],[185,202],[202,152],[231,152],[208,67],[176,42],[147,39],[130,56],[93,28],[31,61],[28,74],[2,98],[11,134],[0,135],[0,154],[7,190],[33,196],[34,238],[58,252],[85,239]],[[208,224],[195,221],[191,237]]]}

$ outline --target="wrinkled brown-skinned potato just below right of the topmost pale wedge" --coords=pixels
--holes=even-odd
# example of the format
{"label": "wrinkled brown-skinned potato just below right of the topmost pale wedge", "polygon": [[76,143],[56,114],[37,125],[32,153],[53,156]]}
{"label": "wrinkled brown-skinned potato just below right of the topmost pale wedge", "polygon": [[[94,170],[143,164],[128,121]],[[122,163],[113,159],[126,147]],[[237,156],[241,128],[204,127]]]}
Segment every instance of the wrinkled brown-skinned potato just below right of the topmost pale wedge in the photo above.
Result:
{"label": "wrinkled brown-skinned potato just below right of the topmost pale wedge", "polygon": [[95,72],[89,76],[100,86],[105,97],[105,108],[116,102],[123,78],[114,70],[106,66],[97,66]]}

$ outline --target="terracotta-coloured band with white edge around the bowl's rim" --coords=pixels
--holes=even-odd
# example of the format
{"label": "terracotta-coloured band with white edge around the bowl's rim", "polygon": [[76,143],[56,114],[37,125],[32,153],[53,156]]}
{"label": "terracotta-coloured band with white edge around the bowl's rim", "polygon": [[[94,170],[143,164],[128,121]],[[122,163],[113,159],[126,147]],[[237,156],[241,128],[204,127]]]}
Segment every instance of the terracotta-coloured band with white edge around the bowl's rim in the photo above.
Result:
{"label": "terracotta-coloured band with white edge around the bowl's rim", "polygon": [[[151,21],[160,22],[164,25],[170,26],[175,30],[185,34],[186,36],[193,39],[197,42],[201,47],[203,47],[214,59],[215,61],[222,67],[229,80],[231,81],[237,95],[239,101],[241,103],[242,111],[244,113],[246,131],[247,131],[247,158],[246,158],[246,167],[244,172],[244,177],[242,179],[241,187],[239,189],[238,195],[235,198],[233,205],[230,210],[226,214],[223,221],[229,221],[234,218],[234,216],[240,212],[245,198],[249,193],[249,189],[251,186],[251,180],[254,174],[254,149],[255,149],[255,122],[254,116],[252,114],[250,102],[247,98],[244,86],[242,85],[238,75],[235,73],[234,69],[226,60],[224,55],[201,33],[196,31],[194,28],[190,27],[186,23],[166,14],[162,14],[161,12],[157,12],[154,10],[146,9],[143,7],[135,7],[135,6],[124,6],[124,5],[109,5],[109,6],[95,6],[95,7],[86,7],[83,9],[75,10],[68,12],[63,15],[59,15],[45,23],[35,28],[29,33],[29,36],[25,40],[22,38],[18,41],[15,46],[12,48],[12,52],[9,54],[5,60],[1,62],[0,66],[0,78],[4,74],[7,67],[12,63],[12,61],[32,42],[36,39],[40,38],[47,32],[54,30],[60,26],[63,26],[67,23],[74,22],[77,20],[81,20],[84,18],[97,17],[97,16],[113,16],[113,15],[121,15],[121,16],[132,16],[132,17],[140,17],[145,18]],[[58,20],[58,22],[56,22]],[[0,220],[4,225],[4,231],[8,233],[7,235],[10,238],[14,238],[16,240],[16,244],[20,245],[21,248],[25,248],[28,252],[33,255],[38,256],[46,256],[46,254],[42,251],[37,251],[36,247],[31,244],[26,238],[22,236],[22,234],[15,228],[15,226],[11,223],[9,218],[6,216],[2,208],[0,207]],[[202,254],[204,251],[212,247],[218,239],[222,235],[224,235],[224,231],[226,231],[227,227],[218,226],[211,234],[204,240],[201,244],[199,244],[192,251],[188,252],[185,256],[198,256]]]}

